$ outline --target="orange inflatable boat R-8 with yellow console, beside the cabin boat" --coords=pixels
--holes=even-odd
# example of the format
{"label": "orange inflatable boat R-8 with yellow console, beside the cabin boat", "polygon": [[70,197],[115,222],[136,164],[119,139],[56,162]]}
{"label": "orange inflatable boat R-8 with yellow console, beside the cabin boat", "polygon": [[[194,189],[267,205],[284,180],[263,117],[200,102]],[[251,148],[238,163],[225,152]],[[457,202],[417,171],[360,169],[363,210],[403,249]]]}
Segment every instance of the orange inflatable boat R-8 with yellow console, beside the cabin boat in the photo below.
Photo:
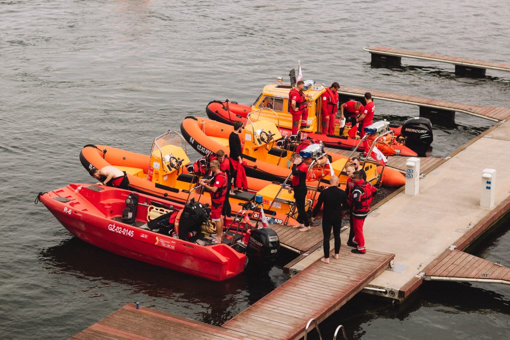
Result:
{"label": "orange inflatable boat R-8 with yellow console, beside the cabin boat", "polygon": [[[233,130],[231,125],[192,116],[186,117],[181,123],[181,133],[185,140],[201,154],[216,152],[219,149],[230,153],[228,136]],[[289,136],[282,138],[276,125],[266,120],[247,122],[240,138],[248,176],[278,182],[283,182],[287,178],[291,172],[290,157],[299,143],[291,141]],[[348,162],[347,157],[330,152],[327,153],[327,157],[334,172],[339,175],[340,183],[345,184],[347,174],[343,169]],[[367,180],[372,184],[379,180],[376,165],[367,162],[364,170],[367,173]],[[329,175],[326,175],[322,181],[326,182],[328,178]],[[381,182],[386,186],[402,186],[405,184],[405,177],[399,171],[386,167]]]}

